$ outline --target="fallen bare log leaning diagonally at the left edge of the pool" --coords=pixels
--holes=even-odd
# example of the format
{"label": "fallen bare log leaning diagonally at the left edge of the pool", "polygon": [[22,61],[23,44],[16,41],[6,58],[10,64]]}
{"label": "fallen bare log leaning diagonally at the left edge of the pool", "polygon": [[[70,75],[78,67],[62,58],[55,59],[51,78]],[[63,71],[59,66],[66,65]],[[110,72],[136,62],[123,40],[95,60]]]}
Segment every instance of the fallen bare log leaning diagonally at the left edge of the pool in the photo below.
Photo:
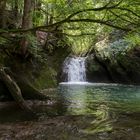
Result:
{"label": "fallen bare log leaning diagonally at the left edge of the pool", "polygon": [[7,87],[7,89],[11,93],[13,99],[17,102],[17,104],[22,109],[24,109],[28,112],[32,112],[31,108],[28,105],[26,105],[26,103],[22,97],[22,93],[21,93],[19,86],[8,74],[5,73],[3,68],[0,69],[0,78],[4,82],[5,86]]}

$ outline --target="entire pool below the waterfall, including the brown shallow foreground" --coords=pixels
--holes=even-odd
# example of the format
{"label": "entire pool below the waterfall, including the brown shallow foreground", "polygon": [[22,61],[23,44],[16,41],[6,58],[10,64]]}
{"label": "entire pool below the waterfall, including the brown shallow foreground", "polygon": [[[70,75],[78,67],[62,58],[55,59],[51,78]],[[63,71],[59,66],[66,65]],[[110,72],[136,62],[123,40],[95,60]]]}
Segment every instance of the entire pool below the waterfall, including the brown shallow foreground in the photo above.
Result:
{"label": "entire pool below the waterfall, including the brown shallow foreground", "polygon": [[[43,102],[35,108],[38,119],[26,119],[26,113],[23,115],[14,108],[9,111],[14,114],[12,116],[4,109],[0,110],[0,120],[5,123],[0,124],[10,126],[15,132],[16,125],[21,132],[26,126],[33,131],[30,136],[34,139],[37,136],[49,140],[140,140],[140,86],[61,83],[50,96],[54,104]],[[9,123],[7,116],[8,121],[12,120]],[[35,129],[37,127],[40,129]]]}

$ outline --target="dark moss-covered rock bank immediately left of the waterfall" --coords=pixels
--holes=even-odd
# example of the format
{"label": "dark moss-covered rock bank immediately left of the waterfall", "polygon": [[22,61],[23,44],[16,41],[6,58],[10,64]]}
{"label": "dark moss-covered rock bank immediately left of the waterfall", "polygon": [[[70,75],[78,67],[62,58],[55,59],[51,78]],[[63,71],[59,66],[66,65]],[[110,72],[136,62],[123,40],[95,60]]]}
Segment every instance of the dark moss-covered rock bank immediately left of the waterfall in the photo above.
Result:
{"label": "dark moss-covered rock bank immediately left of the waterfall", "polygon": [[53,88],[58,84],[62,63],[69,52],[69,47],[59,47],[53,54],[42,53],[41,58],[32,56],[28,60],[0,52],[0,64],[37,89]]}

